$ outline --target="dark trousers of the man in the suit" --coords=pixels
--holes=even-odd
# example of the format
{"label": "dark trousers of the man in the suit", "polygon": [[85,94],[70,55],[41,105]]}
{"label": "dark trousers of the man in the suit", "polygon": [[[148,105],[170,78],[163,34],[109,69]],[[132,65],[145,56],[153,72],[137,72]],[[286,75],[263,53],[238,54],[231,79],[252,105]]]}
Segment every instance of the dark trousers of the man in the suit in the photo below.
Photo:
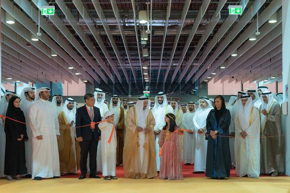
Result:
{"label": "dark trousers of the man in the suit", "polygon": [[85,175],[88,172],[86,168],[86,162],[88,159],[88,153],[90,152],[90,175],[95,175],[97,172],[97,147],[98,142],[94,137],[90,141],[82,141],[80,145],[80,172]]}

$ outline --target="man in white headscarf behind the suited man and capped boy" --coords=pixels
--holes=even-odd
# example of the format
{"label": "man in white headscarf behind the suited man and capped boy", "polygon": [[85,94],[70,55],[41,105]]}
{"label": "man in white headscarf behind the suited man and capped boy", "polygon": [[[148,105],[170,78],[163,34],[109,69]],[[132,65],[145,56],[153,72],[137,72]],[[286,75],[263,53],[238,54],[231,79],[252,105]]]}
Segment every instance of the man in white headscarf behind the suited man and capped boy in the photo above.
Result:
{"label": "man in white headscarf behind the suited man and capped boy", "polygon": [[[96,91],[94,92],[94,96],[96,100],[95,107],[98,107],[100,109],[101,118],[103,118],[105,112],[109,110],[108,105],[105,103],[106,93],[103,90],[97,88]],[[99,141],[100,143],[98,143],[98,147],[97,147],[97,173],[101,173],[103,170],[102,169],[102,142],[101,142],[102,138]],[[89,160],[88,160],[88,166],[89,166]]]}

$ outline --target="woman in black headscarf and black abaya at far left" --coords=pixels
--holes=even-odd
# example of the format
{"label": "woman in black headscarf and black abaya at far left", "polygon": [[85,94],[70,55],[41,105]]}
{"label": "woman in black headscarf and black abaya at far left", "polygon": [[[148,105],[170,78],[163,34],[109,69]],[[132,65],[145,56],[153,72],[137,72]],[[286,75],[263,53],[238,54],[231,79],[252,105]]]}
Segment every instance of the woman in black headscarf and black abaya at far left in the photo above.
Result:
{"label": "woman in black headscarf and black abaya at far left", "polygon": [[[5,121],[6,146],[4,174],[9,181],[20,179],[19,175],[27,174],[25,166],[24,140],[28,140],[26,125],[17,121],[25,122],[23,111],[19,108],[20,98],[17,96],[9,100]],[[17,120],[17,121],[15,121]]]}

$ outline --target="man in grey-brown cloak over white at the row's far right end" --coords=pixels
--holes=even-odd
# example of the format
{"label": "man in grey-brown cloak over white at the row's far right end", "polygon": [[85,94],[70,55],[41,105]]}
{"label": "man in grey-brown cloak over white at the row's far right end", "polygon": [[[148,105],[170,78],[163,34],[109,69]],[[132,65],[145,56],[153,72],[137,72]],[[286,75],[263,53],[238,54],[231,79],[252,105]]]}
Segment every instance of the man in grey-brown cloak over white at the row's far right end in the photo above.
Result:
{"label": "man in grey-brown cloak over white at the row's far right end", "polygon": [[[261,156],[260,172],[277,176],[284,173],[283,137],[281,125],[281,107],[273,98],[272,92],[262,93],[261,117]],[[275,137],[272,137],[275,136]]]}

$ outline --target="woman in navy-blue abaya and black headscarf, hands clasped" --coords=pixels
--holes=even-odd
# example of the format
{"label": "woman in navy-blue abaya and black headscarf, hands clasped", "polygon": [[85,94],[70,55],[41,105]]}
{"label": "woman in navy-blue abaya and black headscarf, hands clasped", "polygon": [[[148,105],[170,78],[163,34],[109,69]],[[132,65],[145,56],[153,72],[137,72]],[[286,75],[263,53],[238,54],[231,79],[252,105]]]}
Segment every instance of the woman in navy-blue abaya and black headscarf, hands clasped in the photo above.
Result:
{"label": "woman in navy-blue abaya and black headscarf, hands clasped", "polygon": [[224,99],[221,95],[215,97],[214,105],[215,108],[210,111],[207,117],[208,151],[206,176],[224,179],[229,177],[231,166],[228,143],[230,113],[225,108]]}

